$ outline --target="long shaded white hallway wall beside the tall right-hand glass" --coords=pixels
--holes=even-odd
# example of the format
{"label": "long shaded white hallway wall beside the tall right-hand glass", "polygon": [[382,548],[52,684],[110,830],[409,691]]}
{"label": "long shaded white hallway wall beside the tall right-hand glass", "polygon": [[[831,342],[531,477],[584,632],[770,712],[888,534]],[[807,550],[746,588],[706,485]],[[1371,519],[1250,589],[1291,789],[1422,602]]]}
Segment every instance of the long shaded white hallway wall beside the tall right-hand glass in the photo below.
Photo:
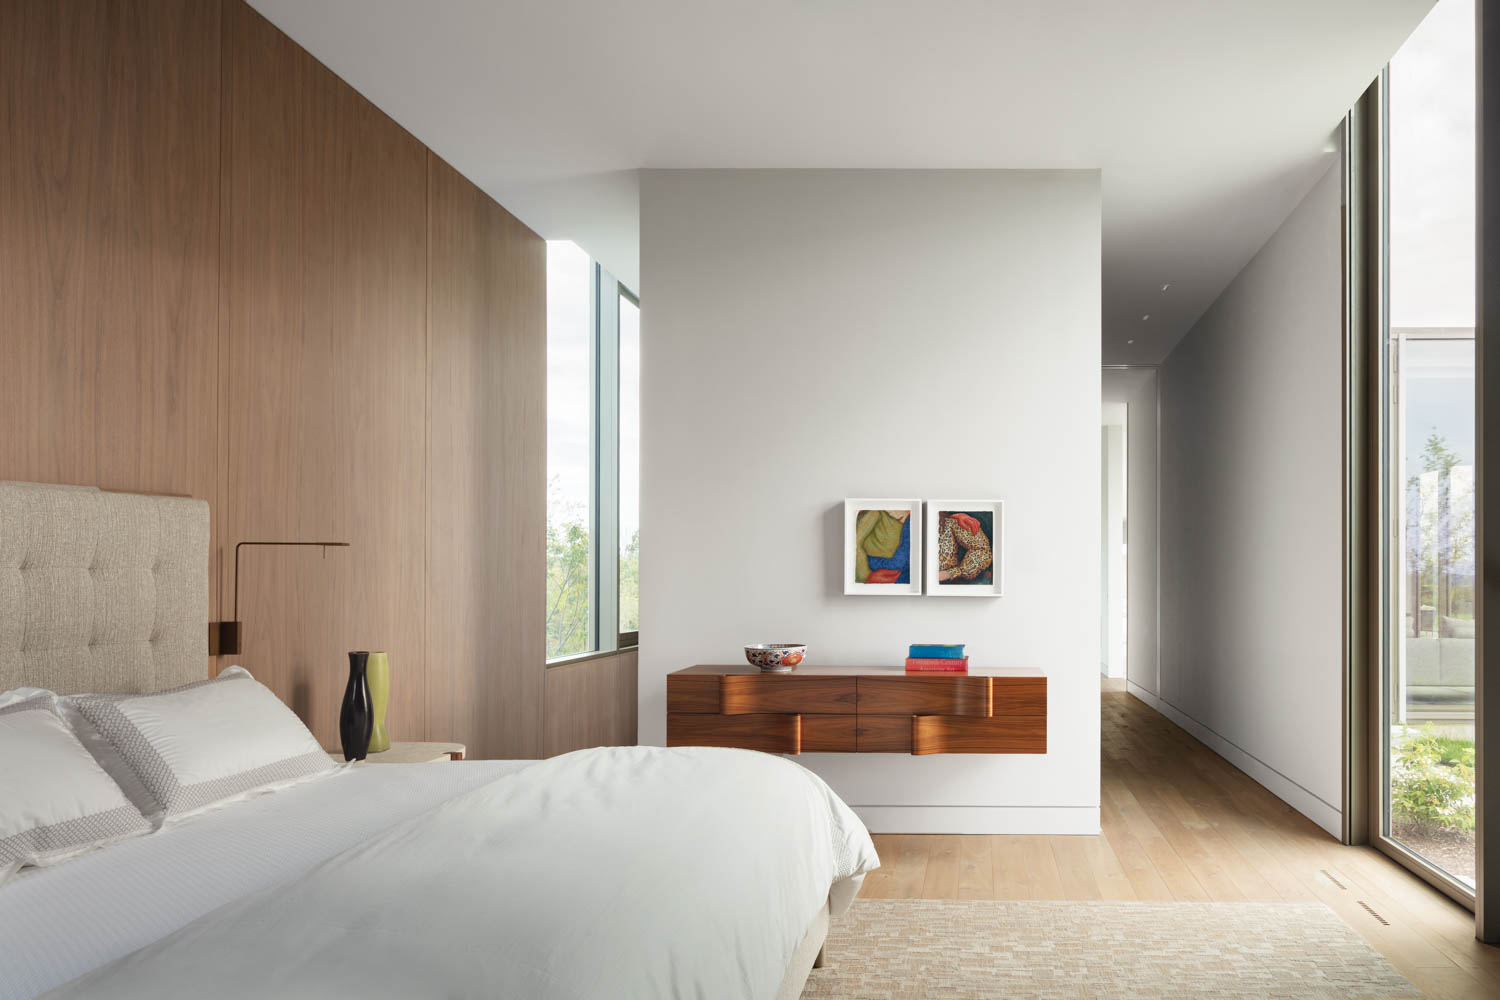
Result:
{"label": "long shaded white hallway wall beside the tall right-hand glass", "polygon": [[1162,366],[1161,687],[1131,687],[1335,835],[1340,289],[1329,169]]}

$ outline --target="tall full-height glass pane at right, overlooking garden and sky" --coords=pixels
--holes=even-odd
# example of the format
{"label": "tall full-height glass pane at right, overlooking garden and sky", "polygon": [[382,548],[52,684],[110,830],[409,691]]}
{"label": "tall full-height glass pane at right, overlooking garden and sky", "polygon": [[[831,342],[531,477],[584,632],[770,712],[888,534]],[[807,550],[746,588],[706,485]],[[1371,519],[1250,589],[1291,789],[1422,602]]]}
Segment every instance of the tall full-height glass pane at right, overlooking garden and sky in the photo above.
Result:
{"label": "tall full-height glass pane at right, overlooking garden and sky", "polygon": [[1438,0],[1386,88],[1380,843],[1474,886],[1474,6]]}

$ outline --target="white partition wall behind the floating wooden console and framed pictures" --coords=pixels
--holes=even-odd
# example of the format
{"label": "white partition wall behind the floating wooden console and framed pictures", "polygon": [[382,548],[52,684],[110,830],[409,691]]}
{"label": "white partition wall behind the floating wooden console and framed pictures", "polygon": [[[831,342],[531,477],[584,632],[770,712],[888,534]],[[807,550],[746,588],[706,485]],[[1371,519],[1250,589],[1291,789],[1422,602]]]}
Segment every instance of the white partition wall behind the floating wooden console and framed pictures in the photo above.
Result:
{"label": "white partition wall behind the floating wooden console and framed pictures", "polygon": [[[640,741],[669,672],[912,642],[1048,675],[1046,756],[816,754],[876,831],[1095,832],[1100,177],[644,171]],[[843,499],[1005,501],[1005,597],[844,597]]]}

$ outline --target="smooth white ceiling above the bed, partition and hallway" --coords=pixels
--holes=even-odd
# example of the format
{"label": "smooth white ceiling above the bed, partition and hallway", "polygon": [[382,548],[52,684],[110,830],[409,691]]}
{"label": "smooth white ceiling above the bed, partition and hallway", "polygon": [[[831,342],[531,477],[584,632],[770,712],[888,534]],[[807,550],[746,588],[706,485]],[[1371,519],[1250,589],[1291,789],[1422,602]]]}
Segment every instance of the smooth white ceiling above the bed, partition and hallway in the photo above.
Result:
{"label": "smooth white ceiling above the bed, partition and hallway", "polygon": [[1260,249],[1432,0],[250,3],[638,288],[642,166],[1102,168],[1120,364]]}

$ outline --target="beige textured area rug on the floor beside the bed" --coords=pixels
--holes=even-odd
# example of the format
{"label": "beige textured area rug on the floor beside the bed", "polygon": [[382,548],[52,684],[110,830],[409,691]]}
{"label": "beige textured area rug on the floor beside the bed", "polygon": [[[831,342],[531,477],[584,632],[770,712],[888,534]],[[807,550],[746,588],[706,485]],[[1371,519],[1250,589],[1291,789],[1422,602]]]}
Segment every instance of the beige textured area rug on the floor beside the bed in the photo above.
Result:
{"label": "beige textured area rug on the floor beside the bed", "polygon": [[1322,903],[856,900],[804,1000],[1420,996]]}

